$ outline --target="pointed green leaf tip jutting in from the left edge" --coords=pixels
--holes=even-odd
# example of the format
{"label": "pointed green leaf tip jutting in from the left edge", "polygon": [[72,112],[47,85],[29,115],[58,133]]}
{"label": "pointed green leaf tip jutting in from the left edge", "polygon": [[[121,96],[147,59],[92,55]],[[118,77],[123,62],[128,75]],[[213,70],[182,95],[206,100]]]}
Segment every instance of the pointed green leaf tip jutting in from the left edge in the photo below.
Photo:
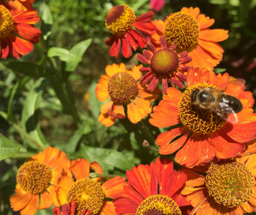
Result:
{"label": "pointed green leaf tip jutting in from the left edge", "polygon": [[0,161],[12,157],[19,151],[19,144],[5,138],[0,134]]}

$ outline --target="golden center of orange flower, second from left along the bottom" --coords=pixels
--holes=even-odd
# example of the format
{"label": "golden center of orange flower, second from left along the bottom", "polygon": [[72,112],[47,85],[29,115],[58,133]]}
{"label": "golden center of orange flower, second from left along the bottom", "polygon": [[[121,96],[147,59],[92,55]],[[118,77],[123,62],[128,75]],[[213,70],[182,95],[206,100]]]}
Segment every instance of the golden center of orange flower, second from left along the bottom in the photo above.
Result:
{"label": "golden center of orange flower, second from left along the bottom", "polygon": [[81,214],[84,209],[89,209],[92,214],[97,214],[103,205],[104,192],[99,182],[91,179],[79,179],[70,187],[67,201],[76,201],[76,214]]}

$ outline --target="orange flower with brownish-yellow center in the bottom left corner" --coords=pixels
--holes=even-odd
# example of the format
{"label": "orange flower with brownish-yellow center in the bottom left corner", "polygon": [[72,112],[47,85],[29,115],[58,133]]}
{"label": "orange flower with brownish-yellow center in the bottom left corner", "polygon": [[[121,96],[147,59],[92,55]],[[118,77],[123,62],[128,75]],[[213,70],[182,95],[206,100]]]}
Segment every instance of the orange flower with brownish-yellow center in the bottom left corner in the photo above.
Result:
{"label": "orange flower with brownish-yellow center in the bottom left corner", "polygon": [[69,168],[70,161],[58,148],[49,146],[32,156],[17,173],[15,194],[10,198],[14,211],[33,215],[38,209],[47,209],[55,204],[55,185],[62,172],[71,176]]}

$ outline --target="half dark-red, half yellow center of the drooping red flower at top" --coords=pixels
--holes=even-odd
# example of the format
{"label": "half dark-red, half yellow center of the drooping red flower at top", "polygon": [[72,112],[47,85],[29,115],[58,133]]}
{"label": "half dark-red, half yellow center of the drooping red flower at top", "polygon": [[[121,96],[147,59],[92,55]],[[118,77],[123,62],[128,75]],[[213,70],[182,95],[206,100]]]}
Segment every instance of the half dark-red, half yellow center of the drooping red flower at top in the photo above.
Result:
{"label": "half dark-red, half yellow center of the drooping red flower at top", "polygon": [[132,28],[136,16],[126,4],[112,7],[106,14],[106,28],[111,34],[122,35]]}

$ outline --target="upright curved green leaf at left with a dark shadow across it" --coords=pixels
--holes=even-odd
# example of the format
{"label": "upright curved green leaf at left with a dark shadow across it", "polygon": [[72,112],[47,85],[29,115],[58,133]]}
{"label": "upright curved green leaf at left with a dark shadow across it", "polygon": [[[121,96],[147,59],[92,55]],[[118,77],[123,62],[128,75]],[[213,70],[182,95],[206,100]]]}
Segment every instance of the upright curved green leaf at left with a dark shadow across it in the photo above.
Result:
{"label": "upright curved green leaf at left with a dark shadow across it", "polygon": [[35,143],[32,143],[32,141],[28,140],[24,136],[22,138],[24,143],[27,143],[32,148],[37,149],[38,146],[45,148],[45,146],[48,145],[47,140],[45,140],[45,137],[42,134],[38,120],[42,92],[47,84],[47,80],[43,78],[40,78],[40,80],[35,82],[34,87],[32,87],[32,90],[30,90],[29,94],[27,95],[22,110],[22,128],[26,130],[29,136],[35,140],[38,145],[36,146]]}

